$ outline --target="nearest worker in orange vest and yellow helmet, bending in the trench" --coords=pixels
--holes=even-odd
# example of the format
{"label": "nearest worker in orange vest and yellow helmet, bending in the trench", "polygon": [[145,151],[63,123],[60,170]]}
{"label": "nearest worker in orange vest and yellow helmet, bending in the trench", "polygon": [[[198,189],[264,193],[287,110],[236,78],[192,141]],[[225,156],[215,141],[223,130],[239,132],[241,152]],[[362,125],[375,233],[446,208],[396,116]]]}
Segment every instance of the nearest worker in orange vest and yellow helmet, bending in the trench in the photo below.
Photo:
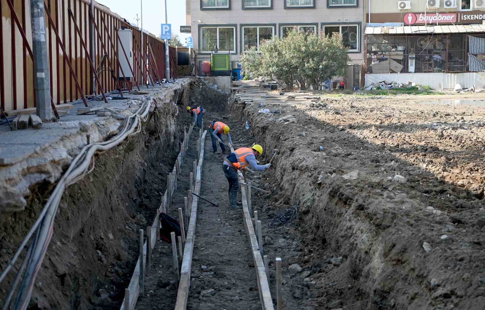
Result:
{"label": "nearest worker in orange vest and yellow helmet, bending in the trench", "polygon": [[247,165],[251,165],[254,170],[266,170],[271,167],[271,163],[259,165],[256,163],[256,156],[263,153],[263,148],[259,144],[253,147],[240,147],[234,152],[230,153],[224,159],[222,169],[224,175],[229,182],[229,209],[241,208],[242,203],[236,200],[239,190],[239,179],[237,170],[243,170]]}

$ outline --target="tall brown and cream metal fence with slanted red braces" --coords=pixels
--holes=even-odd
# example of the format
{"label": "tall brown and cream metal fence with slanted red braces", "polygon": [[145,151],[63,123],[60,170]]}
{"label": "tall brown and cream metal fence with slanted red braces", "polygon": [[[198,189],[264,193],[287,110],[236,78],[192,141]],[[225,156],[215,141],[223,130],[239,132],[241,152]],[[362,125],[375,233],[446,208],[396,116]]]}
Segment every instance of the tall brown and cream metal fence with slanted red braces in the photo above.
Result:
{"label": "tall brown and cream metal fence with slanted red braces", "polygon": [[[30,7],[27,0],[4,0],[0,16],[0,106],[5,112],[36,106],[33,89],[33,53]],[[88,94],[102,94],[120,87],[144,85],[165,78],[164,43],[143,33],[146,70],[143,70],[141,31],[108,8],[89,0],[45,0],[49,49],[50,96],[53,104],[73,102]],[[10,27],[5,27],[10,22]],[[133,79],[120,75],[119,29],[133,32]],[[94,32],[93,39],[91,33]],[[94,44],[94,53],[91,51]],[[176,77],[175,48],[170,51],[170,75]],[[129,52],[127,50],[127,52]],[[106,55],[106,57],[103,57]],[[91,64],[92,63],[92,64]],[[97,79],[93,81],[93,72]]]}

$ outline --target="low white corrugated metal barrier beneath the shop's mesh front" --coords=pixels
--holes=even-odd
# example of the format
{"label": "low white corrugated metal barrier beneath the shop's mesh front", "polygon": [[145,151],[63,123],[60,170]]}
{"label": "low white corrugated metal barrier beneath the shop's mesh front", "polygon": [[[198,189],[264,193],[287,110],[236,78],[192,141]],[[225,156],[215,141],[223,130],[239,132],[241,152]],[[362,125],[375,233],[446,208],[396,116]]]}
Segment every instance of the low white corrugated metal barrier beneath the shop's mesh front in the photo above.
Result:
{"label": "low white corrugated metal barrier beneath the shop's mesh front", "polygon": [[387,73],[387,74],[366,74],[365,85],[380,81],[400,82],[407,84],[411,81],[423,86],[430,86],[432,89],[453,88],[456,83],[462,87],[485,88],[485,72],[469,73]]}

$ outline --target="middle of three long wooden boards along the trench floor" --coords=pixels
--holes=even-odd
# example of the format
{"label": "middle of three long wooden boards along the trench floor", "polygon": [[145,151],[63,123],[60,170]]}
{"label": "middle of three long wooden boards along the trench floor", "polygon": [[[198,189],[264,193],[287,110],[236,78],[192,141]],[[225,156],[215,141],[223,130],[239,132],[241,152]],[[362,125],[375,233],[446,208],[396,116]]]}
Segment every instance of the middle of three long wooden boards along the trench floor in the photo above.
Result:
{"label": "middle of three long wooden boards along the trench floor", "polygon": [[[202,134],[200,143],[199,164],[197,165],[197,172],[195,178],[194,193],[200,195],[200,184],[202,180],[202,163],[204,161],[204,142],[207,131]],[[182,267],[180,268],[180,282],[178,284],[177,301],[175,303],[175,310],[186,310],[187,300],[190,293],[190,274],[192,272],[192,254],[194,253],[195,241],[195,224],[197,222],[197,204],[199,197],[193,195],[192,197],[192,211],[190,214],[189,228],[187,230],[187,237],[185,247],[183,250]]]}

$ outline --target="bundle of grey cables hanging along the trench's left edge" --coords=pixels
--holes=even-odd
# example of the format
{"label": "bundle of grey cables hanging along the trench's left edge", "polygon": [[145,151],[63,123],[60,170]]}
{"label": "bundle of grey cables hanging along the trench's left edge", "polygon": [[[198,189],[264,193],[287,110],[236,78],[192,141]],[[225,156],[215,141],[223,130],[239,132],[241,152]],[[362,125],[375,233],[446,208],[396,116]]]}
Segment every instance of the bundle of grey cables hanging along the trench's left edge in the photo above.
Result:
{"label": "bundle of grey cables hanging along the trench's left edge", "polygon": [[[149,110],[149,102],[142,104],[136,113],[131,114],[127,117],[125,126],[122,131],[120,131],[116,136],[108,141],[91,143],[86,145],[81,149],[79,155],[76,156],[76,158],[69,165],[69,168],[54,188],[51,196],[49,197],[49,200],[44,206],[44,209],[42,210],[42,212],[40,212],[39,217],[33,224],[29,233],[18,247],[14,257],[12,258],[12,261],[9,262],[5,270],[0,275],[1,282],[8,274],[10,269],[12,269],[12,267],[14,266],[14,263],[18,259],[20,253],[27,245],[29,240],[31,240],[32,235],[34,235],[29,249],[27,250],[24,261],[18,269],[18,273],[15,277],[14,283],[11,286],[10,292],[2,308],[3,310],[10,309],[9,307],[11,299],[15,293],[16,286],[20,278],[22,277],[22,273],[24,272],[24,270],[25,274],[18,289],[18,293],[16,294],[16,301],[12,309],[24,310],[27,308],[32,296],[32,289],[35,278],[37,276],[37,273],[39,272],[40,266],[42,264],[44,256],[46,255],[47,248],[52,238],[55,215],[57,213],[59,202],[61,201],[65,188],[82,179],[86,174],[93,170],[94,155],[96,152],[109,150],[110,148],[120,144],[129,135],[140,132],[141,122],[146,121],[146,119],[148,118]],[[89,169],[91,162],[93,162],[93,167]]]}

